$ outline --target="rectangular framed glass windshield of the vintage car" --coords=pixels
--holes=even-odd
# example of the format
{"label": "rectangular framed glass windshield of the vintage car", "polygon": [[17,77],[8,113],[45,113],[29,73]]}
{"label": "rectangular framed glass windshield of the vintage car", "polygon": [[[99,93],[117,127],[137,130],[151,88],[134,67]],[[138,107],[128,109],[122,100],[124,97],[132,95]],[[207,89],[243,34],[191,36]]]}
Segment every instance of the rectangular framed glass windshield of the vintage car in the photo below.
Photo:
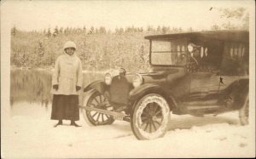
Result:
{"label": "rectangular framed glass windshield of the vintage car", "polygon": [[185,53],[187,50],[185,39],[169,41],[152,41],[151,64],[152,65],[185,65]]}

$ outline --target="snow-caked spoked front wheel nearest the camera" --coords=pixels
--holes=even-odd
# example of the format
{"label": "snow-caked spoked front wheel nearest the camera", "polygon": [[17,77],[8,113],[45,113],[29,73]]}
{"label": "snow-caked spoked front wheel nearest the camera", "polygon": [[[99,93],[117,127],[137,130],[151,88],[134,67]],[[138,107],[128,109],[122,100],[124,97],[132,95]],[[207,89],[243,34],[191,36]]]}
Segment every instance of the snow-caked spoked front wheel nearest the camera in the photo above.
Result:
{"label": "snow-caked spoked front wheel nearest the camera", "polygon": [[169,119],[166,99],[160,94],[147,94],[133,106],[131,129],[137,139],[160,138],[166,134]]}

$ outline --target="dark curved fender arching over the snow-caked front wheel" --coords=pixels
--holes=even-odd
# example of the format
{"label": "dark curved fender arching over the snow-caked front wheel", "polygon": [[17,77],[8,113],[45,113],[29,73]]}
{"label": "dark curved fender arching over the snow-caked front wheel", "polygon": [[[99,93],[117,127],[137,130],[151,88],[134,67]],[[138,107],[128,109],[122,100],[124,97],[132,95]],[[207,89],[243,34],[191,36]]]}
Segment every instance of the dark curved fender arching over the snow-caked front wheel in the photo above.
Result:
{"label": "dark curved fender arching over the snow-caked front wheel", "polygon": [[168,102],[171,110],[177,106],[177,102],[174,99],[172,93],[170,91],[167,91],[160,85],[154,83],[146,83],[138,88],[132,89],[129,94],[129,100],[131,101],[132,104],[134,104],[138,99],[141,99],[145,94],[162,95]]}

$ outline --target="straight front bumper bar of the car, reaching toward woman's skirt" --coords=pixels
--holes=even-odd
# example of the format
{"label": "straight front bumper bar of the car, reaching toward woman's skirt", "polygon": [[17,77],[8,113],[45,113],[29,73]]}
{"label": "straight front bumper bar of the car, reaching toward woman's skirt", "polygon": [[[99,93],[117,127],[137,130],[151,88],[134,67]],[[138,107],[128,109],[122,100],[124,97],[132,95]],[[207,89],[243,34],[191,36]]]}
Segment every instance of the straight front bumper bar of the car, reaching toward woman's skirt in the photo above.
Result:
{"label": "straight front bumper bar of the car, reaching toward woman's skirt", "polygon": [[102,114],[107,114],[109,116],[113,116],[113,119],[116,119],[116,120],[120,120],[120,121],[124,120],[126,122],[130,122],[130,120],[127,121],[128,120],[127,116],[125,116],[125,114],[123,114],[121,112],[102,110],[102,109],[89,107],[89,106],[82,106],[82,105],[79,105],[79,108],[84,109],[86,111],[96,111],[96,112],[99,112],[99,113],[102,113]]}

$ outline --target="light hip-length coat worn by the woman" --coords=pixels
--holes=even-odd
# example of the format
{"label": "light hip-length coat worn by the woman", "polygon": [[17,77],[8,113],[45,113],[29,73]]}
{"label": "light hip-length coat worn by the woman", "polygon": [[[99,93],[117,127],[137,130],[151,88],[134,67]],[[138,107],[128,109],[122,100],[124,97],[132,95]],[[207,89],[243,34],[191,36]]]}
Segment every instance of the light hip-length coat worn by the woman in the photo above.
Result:
{"label": "light hip-length coat worn by the woman", "polygon": [[[83,84],[82,63],[76,54],[61,54],[55,61],[55,69],[52,75],[52,86],[58,84],[56,91],[51,88],[52,94],[80,94]],[[81,87],[76,91],[76,86]]]}

